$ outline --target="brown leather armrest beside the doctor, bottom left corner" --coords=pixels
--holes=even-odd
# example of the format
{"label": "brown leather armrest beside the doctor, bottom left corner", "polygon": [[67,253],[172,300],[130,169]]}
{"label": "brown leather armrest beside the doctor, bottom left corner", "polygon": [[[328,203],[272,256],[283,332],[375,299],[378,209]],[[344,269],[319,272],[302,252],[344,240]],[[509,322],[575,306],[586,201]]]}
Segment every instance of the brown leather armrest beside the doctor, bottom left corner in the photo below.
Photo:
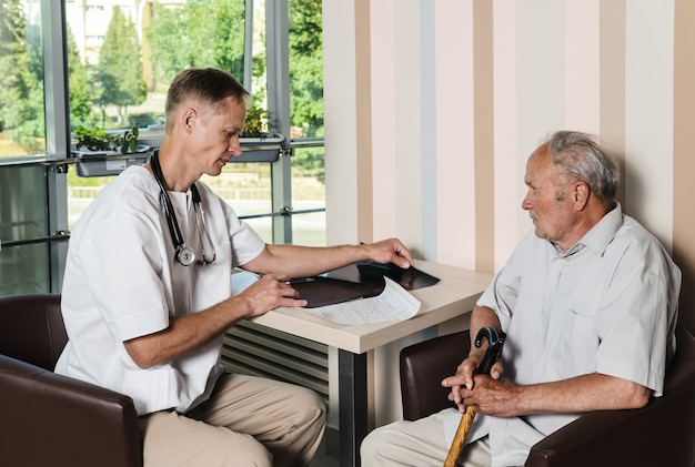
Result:
{"label": "brown leather armrest beside the doctor, bottom left corner", "polygon": [[142,465],[128,396],[0,355],[0,465]]}

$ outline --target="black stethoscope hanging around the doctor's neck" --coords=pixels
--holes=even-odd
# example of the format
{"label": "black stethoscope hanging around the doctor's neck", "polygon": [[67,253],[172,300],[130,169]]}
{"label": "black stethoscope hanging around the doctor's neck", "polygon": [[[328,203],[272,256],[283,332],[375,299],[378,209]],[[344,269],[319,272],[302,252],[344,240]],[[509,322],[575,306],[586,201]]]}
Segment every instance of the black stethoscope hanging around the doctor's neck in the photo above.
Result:
{"label": "black stethoscope hanging around the doctor's neck", "polygon": [[[150,165],[152,166],[154,180],[157,180],[157,184],[159,184],[160,187],[159,200],[162,204],[162,209],[164,210],[164,216],[167,217],[167,224],[169,225],[171,241],[174,244],[174,260],[184,266],[190,266],[193,263],[207,266],[208,264],[214,263],[215,251],[212,245],[212,241],[210,240],[208,227],[205,226],[205,214],[201,205],[200,193],[198,192],[195,183],[191,185],[191,197],[193,201],[193,210],[195,211],[195,229],[198,230],[200,243],[203,247],[203,257],[199,261],[195,261],[195,252],[185,244],[183,235],[181,234],[181,229],[179,227],[179,222],[177,221],[177,213],[174,212],[173,204],[171,203],[171,199],[169,197],[169,193],[164,186],[164,175],[162,174],[162,167],[159,164],[159,150],[154,150],[152,152]],[[212,252],[212,258],[208,258],[205,251]]]}

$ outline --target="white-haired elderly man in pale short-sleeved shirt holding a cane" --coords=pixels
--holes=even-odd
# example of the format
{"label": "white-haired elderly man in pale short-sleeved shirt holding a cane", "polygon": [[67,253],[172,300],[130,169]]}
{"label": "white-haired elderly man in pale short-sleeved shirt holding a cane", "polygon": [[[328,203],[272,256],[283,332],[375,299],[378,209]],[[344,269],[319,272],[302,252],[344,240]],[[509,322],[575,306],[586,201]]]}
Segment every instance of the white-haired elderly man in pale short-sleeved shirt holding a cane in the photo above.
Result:
{"label": "white-haired elderly man in pale short-sleeved shirt holding a cane", "polygon": [[501,362],[474,376],[485,346],[471,345],[441,382],[457,410],[377,428],[362,445],[364,465],[442,465],[461,413],[475,405],[459,463],[518,466],[581,413],[662,395],[681,271],[614,201],[615,163],[588,135],[557,132],[528,158],[525,183],[534,229],[471,317],[472,339],[484,326],[506,333]]}

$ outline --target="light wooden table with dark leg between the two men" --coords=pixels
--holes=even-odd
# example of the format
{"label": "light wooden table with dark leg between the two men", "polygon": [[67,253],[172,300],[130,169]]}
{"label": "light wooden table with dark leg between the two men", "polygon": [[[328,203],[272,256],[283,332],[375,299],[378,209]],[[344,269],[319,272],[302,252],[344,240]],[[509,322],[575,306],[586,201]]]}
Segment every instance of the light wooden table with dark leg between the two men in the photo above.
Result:
{"label": "light wooden table with dark leg between the two men", "polygon": [[441,281],[411,292],[422,305],[417,314],[406,321],[342,325],[304,308],[279,308],[253,319],[339,349],[341,467],[360,466],[360,444],[367,434],[366,353],[472,311],[493,277],[488,273],[425,261],[416,260],[415,266]]}

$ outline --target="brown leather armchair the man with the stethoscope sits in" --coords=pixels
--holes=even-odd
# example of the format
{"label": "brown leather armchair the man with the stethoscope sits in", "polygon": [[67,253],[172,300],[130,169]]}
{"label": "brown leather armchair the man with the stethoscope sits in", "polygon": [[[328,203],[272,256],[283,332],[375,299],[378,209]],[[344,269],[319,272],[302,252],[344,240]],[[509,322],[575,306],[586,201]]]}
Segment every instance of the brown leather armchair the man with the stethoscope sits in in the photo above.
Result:
{"label": "brown leather armchair the man with the stethoscope sits in", "polygon": [[53,373],[60,295],[0,297],[0,465],[141,466],[130,397]]}

